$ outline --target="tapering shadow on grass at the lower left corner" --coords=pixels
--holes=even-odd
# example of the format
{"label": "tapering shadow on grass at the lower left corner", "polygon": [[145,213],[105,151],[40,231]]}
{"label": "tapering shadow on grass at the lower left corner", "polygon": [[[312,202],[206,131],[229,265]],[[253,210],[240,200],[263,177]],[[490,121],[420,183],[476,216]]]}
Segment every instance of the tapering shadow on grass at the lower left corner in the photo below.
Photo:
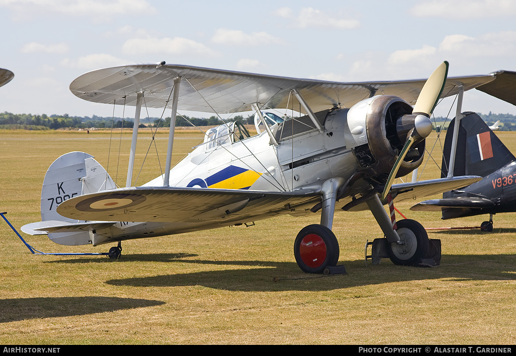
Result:
{"label": "tapering shadow on grass at the lower left corner", "polygon": [[115,312],[162,305],[165,302],[116,297],[50,297],[0,299],[0,323]]}

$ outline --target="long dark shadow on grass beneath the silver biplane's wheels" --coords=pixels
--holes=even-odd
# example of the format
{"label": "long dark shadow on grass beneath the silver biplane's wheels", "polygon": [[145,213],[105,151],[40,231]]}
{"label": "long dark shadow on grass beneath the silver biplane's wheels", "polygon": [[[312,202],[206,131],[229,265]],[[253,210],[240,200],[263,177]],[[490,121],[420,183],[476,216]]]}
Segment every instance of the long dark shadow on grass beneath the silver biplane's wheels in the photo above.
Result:
{"label": "long dark shadow on grass beneath the silver biplane's wheels", "polygon": [[[130,287],[180,287],[202,285],[232,291],[332,290],[386,282],[453,277],[454,280],[516,280],[513,255],[444,256],[447,265],[435,268],[395,266],[385,260],[380,266],[365,267],[364,260],[340,261],[348,274],[306,274],[295,262],[185,261],[192,264],[260,266],[193,273],[113,279],[106,284]],[[476,263],[478,262],[478,263]],[[487,266],[487,268],[486,268]]]}

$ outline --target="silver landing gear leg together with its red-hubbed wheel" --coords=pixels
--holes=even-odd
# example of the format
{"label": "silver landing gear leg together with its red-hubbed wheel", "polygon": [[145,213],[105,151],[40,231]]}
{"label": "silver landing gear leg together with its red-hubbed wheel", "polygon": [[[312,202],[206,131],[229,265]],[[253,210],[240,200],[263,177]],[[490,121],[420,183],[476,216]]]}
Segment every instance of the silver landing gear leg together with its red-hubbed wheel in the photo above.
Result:
{"label": "silver landing gear leg together with its red-hubbed wheel", "polygon": [[337,193],[344,180],[334,178],[322,184],[321,223],[305,226],[297,234],[294,242],[294,256],[303,272],[322,273],[328,266],[338,262],[338,241],[331,231]]}

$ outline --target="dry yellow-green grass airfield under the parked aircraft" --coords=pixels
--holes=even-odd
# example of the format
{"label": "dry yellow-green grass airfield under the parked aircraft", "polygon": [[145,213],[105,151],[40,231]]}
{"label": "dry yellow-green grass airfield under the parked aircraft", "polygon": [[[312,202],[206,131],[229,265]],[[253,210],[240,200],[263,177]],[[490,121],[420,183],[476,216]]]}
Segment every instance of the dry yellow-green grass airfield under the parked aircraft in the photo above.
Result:
{"label": "dry yellow-green grass airfield under the parked aircraft", "polygon": [[[136,185],[161,174],[156,150],[164,169],[168,138],[167,130],[154,141],[149,129],[140,131]],[[516,132],[496,134],[516,152]],[[436,137],[433,132],[427,139],[427,150],[440,165],[440,144],[432,149]],[[202,139],[199,131],[177,130],[173,162]],[[18,229],[40,221],[46,169],[69,151],[92,154],[125,185],[130,142],[131,130],[1,130],[0,210]],[[420,173],[425,165],[421,179],[439,177],[432,160],[425,159]],[[440,213],[410,211],[415,203],[395,205],[425,227],[479,226],[489,220],[481,215],[443,221]],[[250,227],[124,241],[116,261],[32,255],[0,220],[0,342],[514,344],[514,214],[495,215],[492,233],[429,230],[431,239],[441,239],[441,266],[415,268],[388,259],[378,266],[368,260],[366,266],[365,242],[381,238],[381,230],[369,211],[339,212],[333,231],[339,264],[348,274],[305,274],[294,258],[294,239],[303,226],[319,220],[319,214],[286,215]],[[46,236],[22,235],[42,252],[107,252],[112,246],[62,246]]]}

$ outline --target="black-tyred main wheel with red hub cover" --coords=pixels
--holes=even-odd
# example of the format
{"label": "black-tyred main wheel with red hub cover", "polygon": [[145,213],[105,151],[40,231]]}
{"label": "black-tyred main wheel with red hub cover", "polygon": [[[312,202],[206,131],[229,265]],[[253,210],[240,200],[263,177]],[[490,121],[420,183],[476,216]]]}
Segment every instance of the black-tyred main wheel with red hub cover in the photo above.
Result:
{"label": "black-tyred main wheel with red hub cover", "polygon": [[305,226],[294,242],[294,256],[303,272],[322,273],[328,266],[338,262],[338,241],[326,226]]}

